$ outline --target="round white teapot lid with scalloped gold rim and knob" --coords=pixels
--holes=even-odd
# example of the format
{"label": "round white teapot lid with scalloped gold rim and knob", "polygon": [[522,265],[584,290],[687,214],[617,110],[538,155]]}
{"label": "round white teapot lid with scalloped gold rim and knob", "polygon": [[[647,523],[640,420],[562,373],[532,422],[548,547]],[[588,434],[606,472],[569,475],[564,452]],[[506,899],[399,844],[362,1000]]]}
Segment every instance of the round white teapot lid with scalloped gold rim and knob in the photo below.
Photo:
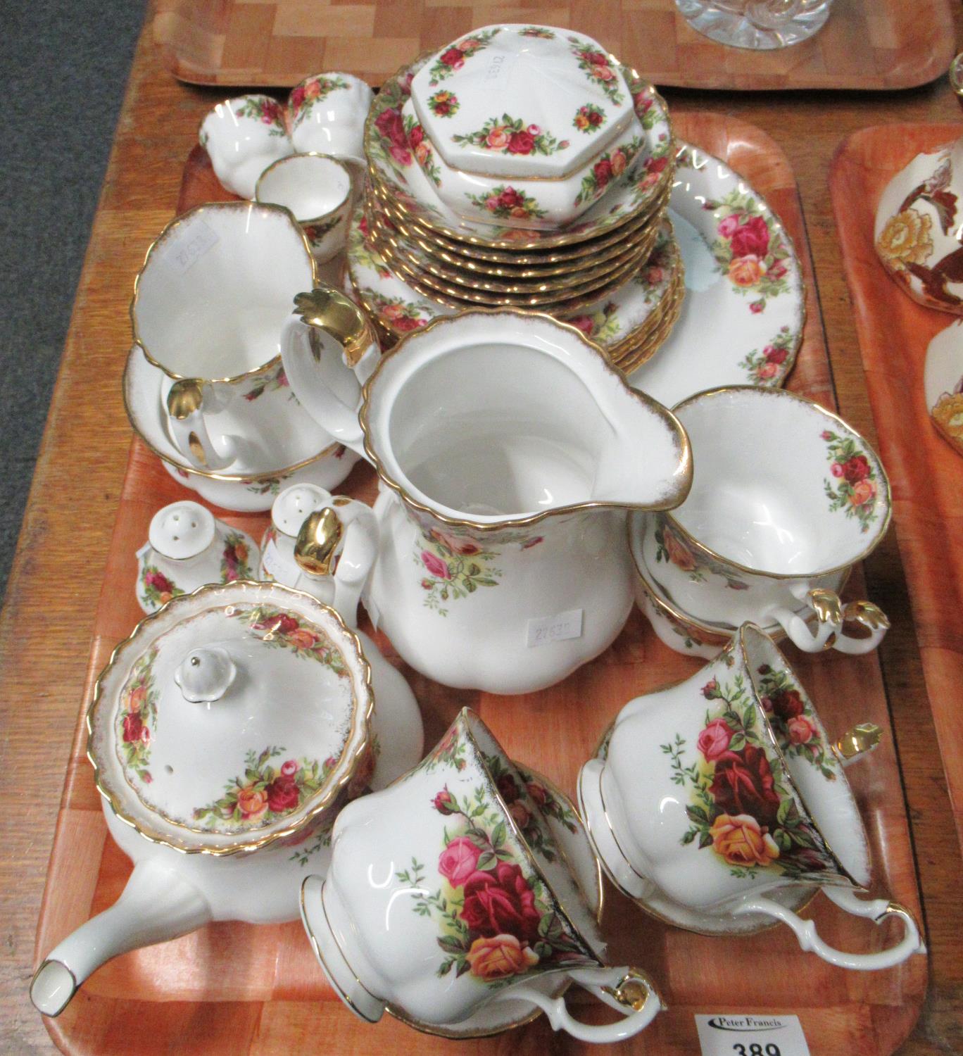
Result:
{"label": "round white teapot lid with scalloped gold rim and knob", "polygon": [[205,586],[114,650],[88,755],[141,835],[253,850],[336,802],[369,748],[373,705],[367,661],[334,609],[277,583]]}

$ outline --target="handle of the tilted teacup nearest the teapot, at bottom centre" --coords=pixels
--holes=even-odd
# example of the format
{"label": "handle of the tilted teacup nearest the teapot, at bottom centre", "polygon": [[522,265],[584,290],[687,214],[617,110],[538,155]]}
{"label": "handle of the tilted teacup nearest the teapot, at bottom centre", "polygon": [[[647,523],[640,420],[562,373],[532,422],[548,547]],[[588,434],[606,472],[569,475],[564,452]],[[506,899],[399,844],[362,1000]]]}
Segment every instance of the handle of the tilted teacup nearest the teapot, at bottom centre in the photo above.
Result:
{"label": "handle of the tilted teacup nearest the teapot, at bottom centre", "polygon": [[577,968],[568,973],[580,986],[621,1013],[615,1023],[583,1023],[574,1019],[565,996],[551,998],[533,986],[510,986],[495,1001],[529,1001],[546,1015],[553,1031],[565,1031],[579,1041],[610,1043],[644,1031],[665,1005],[644,972],[638,968]]}

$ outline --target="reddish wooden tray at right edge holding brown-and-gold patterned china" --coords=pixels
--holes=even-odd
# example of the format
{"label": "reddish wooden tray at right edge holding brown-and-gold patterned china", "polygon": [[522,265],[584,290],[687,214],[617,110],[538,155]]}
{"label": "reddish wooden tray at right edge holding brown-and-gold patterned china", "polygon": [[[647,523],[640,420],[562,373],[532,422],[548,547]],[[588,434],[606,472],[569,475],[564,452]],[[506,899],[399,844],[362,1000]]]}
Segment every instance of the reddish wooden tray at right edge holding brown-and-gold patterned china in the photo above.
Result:
{"label": "reddish wooden tray at right edge holding brown-and-gold patterned china", "polygon": [[926,689],[963,842],[963,458],[937,432],[923,395],[927,345],[959,317],[910,300],[873,248],[876,203],[889,181],[915,154],[961,133],[960,125],[856,132],[833,158],[830,190],[880,454],[892,483]]}

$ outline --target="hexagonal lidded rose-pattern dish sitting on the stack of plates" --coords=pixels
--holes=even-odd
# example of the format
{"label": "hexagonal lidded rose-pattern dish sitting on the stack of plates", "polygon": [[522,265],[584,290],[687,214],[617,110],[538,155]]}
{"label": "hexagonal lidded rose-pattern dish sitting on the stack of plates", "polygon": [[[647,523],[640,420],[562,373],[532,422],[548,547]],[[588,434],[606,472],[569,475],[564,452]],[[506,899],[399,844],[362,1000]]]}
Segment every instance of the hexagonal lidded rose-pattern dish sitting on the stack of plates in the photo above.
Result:
{"label": "hexagonal lidded rose-pattern dish sitting on the stack of plates", "polygon": [[402,114],[419,165],[458,214],[477,219],[508,187],[537,204],[510,226],[571,223],[648,154],[619,61],[550,26],[491,25],[442,48],[415,74]]}

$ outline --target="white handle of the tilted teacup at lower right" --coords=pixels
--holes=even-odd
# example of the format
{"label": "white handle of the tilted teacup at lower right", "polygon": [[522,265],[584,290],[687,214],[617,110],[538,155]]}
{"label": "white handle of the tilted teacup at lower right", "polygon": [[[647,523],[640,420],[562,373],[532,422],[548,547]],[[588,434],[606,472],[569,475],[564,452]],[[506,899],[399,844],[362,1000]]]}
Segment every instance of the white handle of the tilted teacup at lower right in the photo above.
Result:
{"label": "white handle of the tilted teacup at lower right", "polygon": [[857,898],[856,893],[848,887],[824,887],[823,891],[841,909],[854,917],[866,917],[876,924],[889,917],[899,917],[903,921],[903,938],[894,946],[890,946],[889,949],[881,949],[876,954],[847,954],[845,950],[830,946],[819,938],[815,921],[802,920],[791,909],[787,909],[786,906],[779,905],[778,902],[773,902],[771,899],[748,898],[733,912],[737,916],[764,913],[768,917],[775,917],[795,934],[802,949],[810,950],[817,957],[822,957],[824,961],[841,968],[876,972],[880,968],[891,968],[896,964],[902,964],[913,954],[926,953],[926,946],[920,938],[917,922],[905,906],[901,906],[898,902],[888,902],[886,899],[863,900]]}

